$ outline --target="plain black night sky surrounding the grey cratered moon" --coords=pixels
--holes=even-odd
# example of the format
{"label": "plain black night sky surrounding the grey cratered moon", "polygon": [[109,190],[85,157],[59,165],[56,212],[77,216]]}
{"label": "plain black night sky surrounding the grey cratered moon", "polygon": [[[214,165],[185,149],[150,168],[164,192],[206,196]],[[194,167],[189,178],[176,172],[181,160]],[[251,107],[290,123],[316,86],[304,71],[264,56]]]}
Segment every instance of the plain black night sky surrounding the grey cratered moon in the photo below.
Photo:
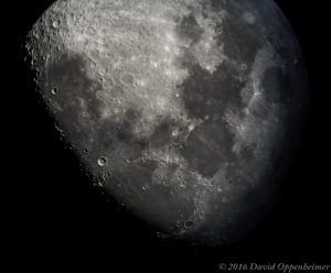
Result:
{"label": "plain black night sky surrounding the grey cratered moon", "polygon": [[[330,263],[330,176],[328,157],[327,17],[323,4],[276,1],[298,36],[308,66],[311,110],[286,190],[271,214],[235,245],[193,250],[161,243],[151,230],[100,198],[58,141],[51,119],[22,65],[24,36],[50,0],[4,8],[9,50],[2,100],[3,151],[9,151],[2,183],[8,250],[24,266],[106,265],[107,271],[217,272],[223,262]],[[7,43],[8,44],[8,43]],[[11,53],[13,51],[13,53]],[[6,129],[8,128],[8,129]],[[6,155],[7,156],[7,155]],[[9,159],[9,160],[8,160]],[[20,261],[20,262],[18,262]],[[95,270],[94,270],[95,271]]]}

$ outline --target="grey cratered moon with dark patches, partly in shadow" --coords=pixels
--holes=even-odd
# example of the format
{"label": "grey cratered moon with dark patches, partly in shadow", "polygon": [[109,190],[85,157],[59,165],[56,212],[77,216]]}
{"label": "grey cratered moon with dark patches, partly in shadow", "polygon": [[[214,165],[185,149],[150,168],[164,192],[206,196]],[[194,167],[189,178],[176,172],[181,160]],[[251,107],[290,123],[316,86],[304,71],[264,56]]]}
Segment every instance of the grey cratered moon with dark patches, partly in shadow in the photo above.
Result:
{"label": "grey cratered moon with dark patches, partly in shadow", "polygon": [[308,86],[274,1],[56,1],[26,52],[64,143],[160,237],[228,243],[274,206]]}

